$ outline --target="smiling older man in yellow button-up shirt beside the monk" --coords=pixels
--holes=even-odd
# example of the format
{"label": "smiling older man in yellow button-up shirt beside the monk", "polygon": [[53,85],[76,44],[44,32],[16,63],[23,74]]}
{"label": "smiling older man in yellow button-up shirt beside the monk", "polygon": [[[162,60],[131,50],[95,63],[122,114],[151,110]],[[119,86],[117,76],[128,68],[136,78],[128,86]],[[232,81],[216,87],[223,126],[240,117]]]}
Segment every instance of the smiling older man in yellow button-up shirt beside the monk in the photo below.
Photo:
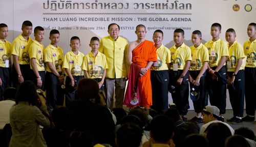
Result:
{"label": "smiling older man in yellow button-up shirt beside the monk", "polygon": [[124,61],[125,46],[128,41],[119,36],[120,26],[111,23],[108,26],[109,36],[100,40],[99,51],[106,56],[108,69],[105,77],[106,106],[113,108],[115,89],[115,107],[122,108],[126,84],[126,67]]}

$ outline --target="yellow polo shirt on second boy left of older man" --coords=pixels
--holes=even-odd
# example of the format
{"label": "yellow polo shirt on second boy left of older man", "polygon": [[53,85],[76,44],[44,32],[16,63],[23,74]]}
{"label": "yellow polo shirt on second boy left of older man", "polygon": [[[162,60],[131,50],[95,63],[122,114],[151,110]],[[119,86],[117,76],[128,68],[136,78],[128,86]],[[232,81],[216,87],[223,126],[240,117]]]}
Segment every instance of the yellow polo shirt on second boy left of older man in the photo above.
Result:
{"label": "yellow polo shirt on second boy left of older man", "polygon": [[[70,70],[72,76],[83,76],[82,61],[84,54],[78,51],[78,54],[74,54],[73,51],[69,51],[64,56],[64,62],[62,68]],[[68,76],[68,74],[66,73]]]}

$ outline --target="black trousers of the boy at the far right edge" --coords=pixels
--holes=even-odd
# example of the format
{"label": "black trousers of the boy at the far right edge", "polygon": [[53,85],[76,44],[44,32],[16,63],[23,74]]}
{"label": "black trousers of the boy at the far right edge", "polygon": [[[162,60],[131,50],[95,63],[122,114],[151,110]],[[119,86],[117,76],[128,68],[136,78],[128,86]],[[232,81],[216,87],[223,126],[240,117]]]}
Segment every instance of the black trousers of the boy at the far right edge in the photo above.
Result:
{"label": "black trousers of the boy at the far right edge", "polygon": [[254,116],[256,109],[256,68],[245,67],[244,75],[246,114]]}

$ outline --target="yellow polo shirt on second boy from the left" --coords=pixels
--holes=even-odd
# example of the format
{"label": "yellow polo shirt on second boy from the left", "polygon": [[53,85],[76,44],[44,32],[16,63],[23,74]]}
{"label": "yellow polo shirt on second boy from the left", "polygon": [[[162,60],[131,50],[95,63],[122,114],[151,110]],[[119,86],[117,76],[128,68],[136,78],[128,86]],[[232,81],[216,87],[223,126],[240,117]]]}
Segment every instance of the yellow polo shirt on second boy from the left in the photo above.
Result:
{"label": "yellow polo shirt on second boy from the left", "polygon": [[33,43],[33,40],[30,37],[29,40],[27,41],[21,34],[16,39],[14,39],[12,43],[12,54],[18,56],[19,64],[29,64],[28,50],[31,43]]}

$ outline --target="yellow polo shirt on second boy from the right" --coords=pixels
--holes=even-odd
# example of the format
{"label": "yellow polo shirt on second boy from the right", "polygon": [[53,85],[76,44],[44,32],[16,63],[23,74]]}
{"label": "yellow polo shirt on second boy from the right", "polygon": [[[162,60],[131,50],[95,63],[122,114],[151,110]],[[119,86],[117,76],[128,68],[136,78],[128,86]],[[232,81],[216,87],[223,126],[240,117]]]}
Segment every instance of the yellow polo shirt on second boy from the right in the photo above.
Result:
{"label": "yellow polo shirt on second boy from the right", "polygon": [[[229,46],[228,44],[228,52],[229,52],[229,57],[227,58],[227,71],[228,72],[234,72],[236,69],[237,63],[239,58],[244,58],[244,51],[243,51],[243,46],[238,43],[237,41],[234,41],[234,43]],[[230,62],[230,64],[229,64]],[[239,70],[243,70],[244,66],[243,64],[241,65]]]}

